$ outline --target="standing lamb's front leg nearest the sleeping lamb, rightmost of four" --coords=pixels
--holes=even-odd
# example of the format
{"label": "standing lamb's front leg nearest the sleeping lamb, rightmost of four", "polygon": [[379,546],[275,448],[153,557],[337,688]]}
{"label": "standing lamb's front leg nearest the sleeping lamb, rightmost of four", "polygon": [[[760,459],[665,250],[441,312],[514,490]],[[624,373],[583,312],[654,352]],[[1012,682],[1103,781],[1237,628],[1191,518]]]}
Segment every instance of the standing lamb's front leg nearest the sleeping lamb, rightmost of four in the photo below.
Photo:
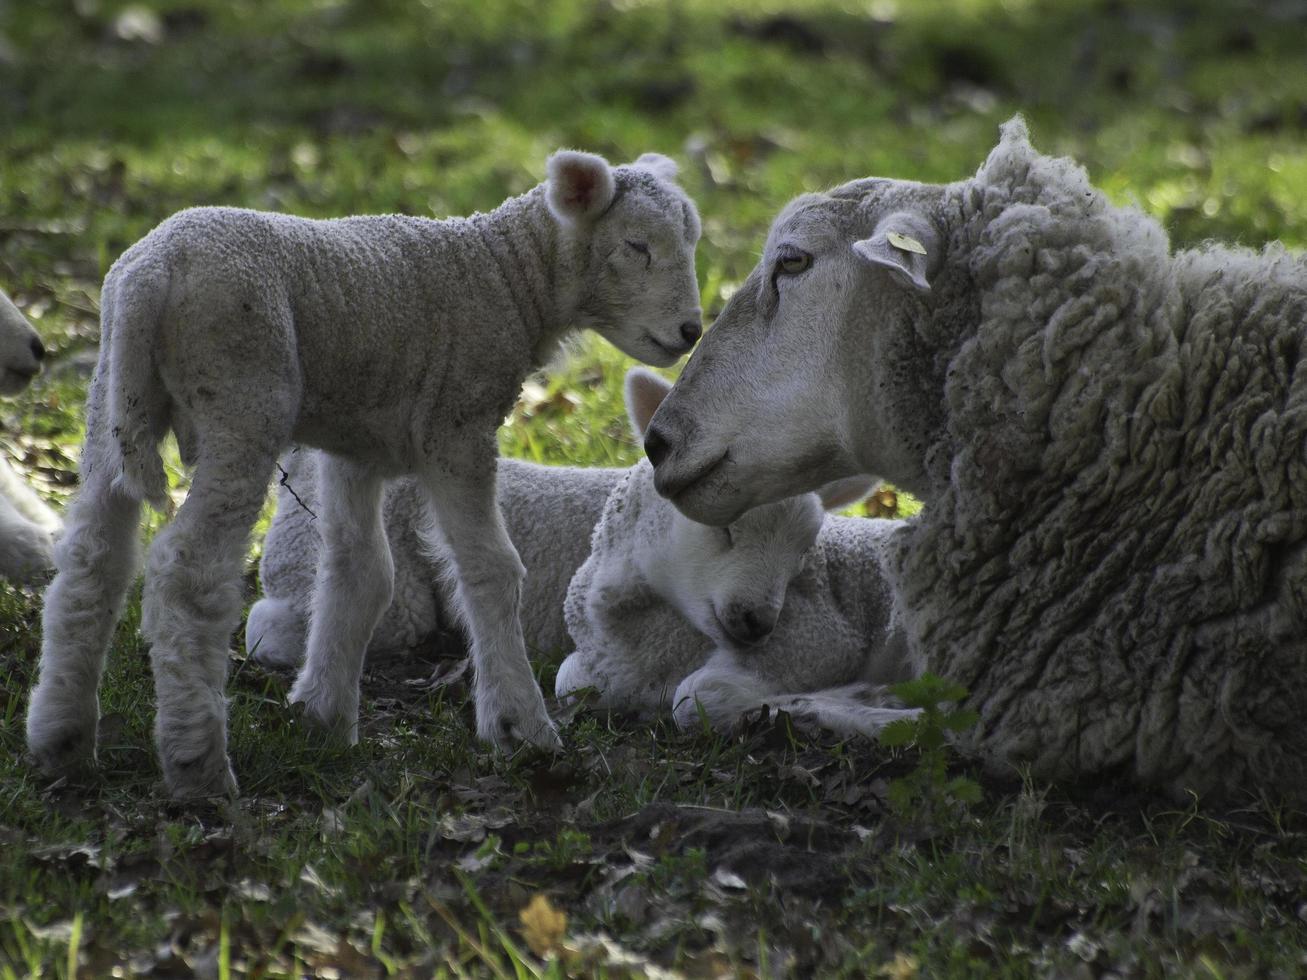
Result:
{"label": "standing lamb's front leg nearest the sleeping lamb, rightmost of four", "polygon": [[495,502],[495,460],[456,473],[434,470],[423,485],[437,544],[454,566],[455,609],[472,642],[477,736],[506,747],[561,745],[527,661],[521,638],[525,568]]}

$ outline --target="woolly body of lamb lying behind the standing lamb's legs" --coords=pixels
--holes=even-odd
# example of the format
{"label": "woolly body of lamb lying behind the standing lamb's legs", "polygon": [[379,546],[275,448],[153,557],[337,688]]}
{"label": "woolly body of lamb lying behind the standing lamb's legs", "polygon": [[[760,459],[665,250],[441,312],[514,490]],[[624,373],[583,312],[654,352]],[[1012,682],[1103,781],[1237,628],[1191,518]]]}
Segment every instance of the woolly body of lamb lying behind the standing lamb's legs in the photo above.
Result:
{"label": "woolly body of lamb lying behind the standing lamb's legs", "polygon": [[[263,542],[259,580],[263,598],[246,621],[246,649],[274,666],[303,661],[314,576],[322,554],[315,449],[288,453],[277,491],[277,512]],[[563,625],[563,596],[589,554],[589,536],[620,468],[541,466],[502,459],[497,495],[503,523],[527,570],[521,587],[521,632],[528,655],[571,649]],[[395,595],[367,644],[369,652],[412,649],[451,627],[451,588],[443,562],[433,555],[421,485],[412,477],[386,486],[383,521],[395,559]]]}

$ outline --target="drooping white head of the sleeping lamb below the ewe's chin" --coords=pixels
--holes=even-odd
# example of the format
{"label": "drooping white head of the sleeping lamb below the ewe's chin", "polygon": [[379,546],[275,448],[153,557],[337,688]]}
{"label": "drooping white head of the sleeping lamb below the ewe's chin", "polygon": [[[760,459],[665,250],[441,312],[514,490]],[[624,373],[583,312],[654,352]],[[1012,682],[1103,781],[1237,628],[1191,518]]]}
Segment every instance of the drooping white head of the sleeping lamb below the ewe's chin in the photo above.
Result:
{"label": "drooping white head of the sleeping lamb below the ewe's chin", "polygon": [[[640,368],[626,376],[631,423],[643,434],[670,385]],[[637,527],[634,564],[643,580],[699,632],[727,648],[766,639],[776,625],[786,591],[817,541],[822,508],[843,507],[872,489],[870,478],[839,481],[821,494],[799,494],[746,511],[725,527],[698,524],[654,487],[640,463],[627,493]]]}

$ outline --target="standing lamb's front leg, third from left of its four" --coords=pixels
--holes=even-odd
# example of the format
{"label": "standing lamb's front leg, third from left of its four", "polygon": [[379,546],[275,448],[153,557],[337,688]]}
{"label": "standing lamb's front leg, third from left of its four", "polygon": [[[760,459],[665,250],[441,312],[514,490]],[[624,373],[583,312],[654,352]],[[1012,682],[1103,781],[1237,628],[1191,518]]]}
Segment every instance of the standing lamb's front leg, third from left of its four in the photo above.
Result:
{"label": "standing lamb's front leg, third from left of its four", "polygon": [[323,546],[308,612],[307,655],[290,700],[353,745],[363,656],[391,602],[395,563],[382,524],[380,477],[324,453],[319,482]]}

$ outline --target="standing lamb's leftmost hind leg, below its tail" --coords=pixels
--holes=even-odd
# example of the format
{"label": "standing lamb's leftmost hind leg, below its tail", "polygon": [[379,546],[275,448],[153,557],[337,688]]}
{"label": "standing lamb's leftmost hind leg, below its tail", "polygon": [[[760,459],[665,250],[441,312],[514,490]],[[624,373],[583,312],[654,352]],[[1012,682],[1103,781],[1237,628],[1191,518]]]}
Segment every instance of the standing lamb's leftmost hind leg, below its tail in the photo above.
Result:
{"label": "standing lamb's leftmost hind leg, below its tail", "polygon": [[136,574],[141,504],[114,485],[105,385],[86,405],[82,487],[55,546],[42,613],[41,669],[27,706],[27,749],[46,772],[95,759],[99,678],[127,587]]}

